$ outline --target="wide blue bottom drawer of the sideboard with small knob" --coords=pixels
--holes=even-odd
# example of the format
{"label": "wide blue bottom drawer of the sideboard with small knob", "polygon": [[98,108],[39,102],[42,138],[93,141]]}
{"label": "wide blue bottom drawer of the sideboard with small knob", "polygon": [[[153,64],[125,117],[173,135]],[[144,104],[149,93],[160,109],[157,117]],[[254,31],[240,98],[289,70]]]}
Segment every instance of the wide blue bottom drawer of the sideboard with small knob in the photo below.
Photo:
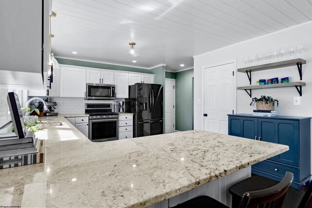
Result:
{"label": "wide blue bottom drawer of the sideboard with small knob", "polygon": [[279,178],[284,178],[286,171],[293,173],[293,181],[299,182],[299,169],[270,162],[268,160],[253,165],[253,169],[272,174]]}

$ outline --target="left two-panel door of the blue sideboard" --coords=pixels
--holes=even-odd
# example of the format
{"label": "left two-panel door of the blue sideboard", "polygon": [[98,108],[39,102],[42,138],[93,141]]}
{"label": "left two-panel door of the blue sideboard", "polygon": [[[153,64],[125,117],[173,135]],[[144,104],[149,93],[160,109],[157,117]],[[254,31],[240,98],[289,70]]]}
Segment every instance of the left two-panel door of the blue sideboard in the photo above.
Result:
{"label": "left two-panel door of the blue sideboard", "polygon": [[229,116],[229,135],[255,139],[257,130],[257,118]]}

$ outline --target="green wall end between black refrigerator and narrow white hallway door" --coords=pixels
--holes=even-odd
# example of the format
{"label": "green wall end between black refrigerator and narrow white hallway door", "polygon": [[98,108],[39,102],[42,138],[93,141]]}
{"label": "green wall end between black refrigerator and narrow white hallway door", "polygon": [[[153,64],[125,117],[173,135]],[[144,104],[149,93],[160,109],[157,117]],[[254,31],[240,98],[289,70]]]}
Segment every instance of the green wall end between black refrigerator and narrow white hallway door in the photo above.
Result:
{"label": "green wall end between black refrigerator and narrow white hallway door", "polygon": [[152,74],[155,75],[155,84],[162,84],[163,87],[163,105],[162,105],[162,132],[165,133],[165,84],[166,84],[166,66],[158,66],[150,70]]}

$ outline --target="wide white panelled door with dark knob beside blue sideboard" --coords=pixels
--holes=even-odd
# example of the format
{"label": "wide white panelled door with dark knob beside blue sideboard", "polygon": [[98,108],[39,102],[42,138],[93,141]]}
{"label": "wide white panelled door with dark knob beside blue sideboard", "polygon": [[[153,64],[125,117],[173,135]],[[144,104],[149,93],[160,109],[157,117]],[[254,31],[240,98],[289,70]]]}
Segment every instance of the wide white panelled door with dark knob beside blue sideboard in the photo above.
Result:
{"label": "wide white panelled door with dark knob beside blue sideboard", "polygon": [[204,69],[204,131],[228,134],[234,90],[234,63]]}

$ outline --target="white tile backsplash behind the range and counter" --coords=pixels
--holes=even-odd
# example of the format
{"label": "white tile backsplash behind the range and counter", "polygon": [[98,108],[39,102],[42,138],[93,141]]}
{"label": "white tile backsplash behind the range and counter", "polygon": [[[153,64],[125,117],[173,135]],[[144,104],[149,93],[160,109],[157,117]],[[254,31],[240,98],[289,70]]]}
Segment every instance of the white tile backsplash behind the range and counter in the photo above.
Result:
{"label": "white tile backsplash behind the range and counter", "polygon": [[[41,97],[46,98],[46,97]],[[35,100],[34,103],[37,106],[39,100]],[[57,106],[55,106],[55,112],[59,114],[77,114],[84,113],[85,103],[111,103],[114,111],[114,101],[125,101],[124,98],[116,98],[115,100],[85,100],[84,98],[76,98],[76,97],[52,97],[53,102],[57,102]],[[31,105],[32,109],[34,105]]]}

